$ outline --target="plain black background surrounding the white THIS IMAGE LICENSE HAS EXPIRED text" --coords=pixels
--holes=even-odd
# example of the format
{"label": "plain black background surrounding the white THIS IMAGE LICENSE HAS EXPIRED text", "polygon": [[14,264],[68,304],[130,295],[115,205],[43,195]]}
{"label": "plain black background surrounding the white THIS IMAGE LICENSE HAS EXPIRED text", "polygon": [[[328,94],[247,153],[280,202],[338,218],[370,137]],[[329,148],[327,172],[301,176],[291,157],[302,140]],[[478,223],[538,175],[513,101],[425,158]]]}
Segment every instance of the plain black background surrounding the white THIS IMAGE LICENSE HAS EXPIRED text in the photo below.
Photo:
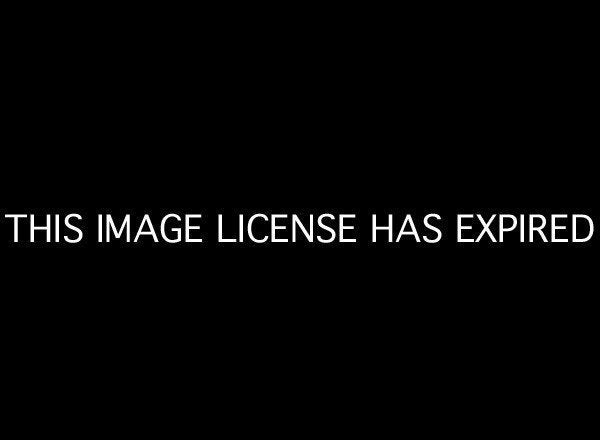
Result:
{"label": "plain black background surrounding the white THIS IMAGE LICENSE HAS EXPIRED text", "polygon": [[[597,238],[460,246],[453,218],[597,221],[592,29],[523,11],[247,12],[30,11],[3,56],[2,213],[356,212],[361,243],[5,240],[12,413],[572,429],[594,389]],[[447,221],[440,245],[368,244],[371,213],[428,212]]]}

